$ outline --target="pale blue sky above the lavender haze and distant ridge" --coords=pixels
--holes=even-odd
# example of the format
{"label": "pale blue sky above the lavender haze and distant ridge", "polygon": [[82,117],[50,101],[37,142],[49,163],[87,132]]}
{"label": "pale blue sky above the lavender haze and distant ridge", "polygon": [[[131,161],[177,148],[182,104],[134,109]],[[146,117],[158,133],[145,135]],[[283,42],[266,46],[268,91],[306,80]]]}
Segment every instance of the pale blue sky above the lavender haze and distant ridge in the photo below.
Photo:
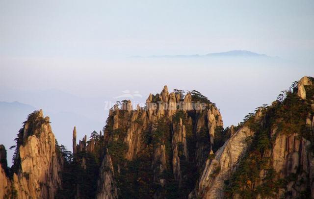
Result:
{"label": "pale blue sky above the lavender haze and distant ridge", "polygon": [[313,0],[0,0],[0,56],[251,50],[313,61]]}

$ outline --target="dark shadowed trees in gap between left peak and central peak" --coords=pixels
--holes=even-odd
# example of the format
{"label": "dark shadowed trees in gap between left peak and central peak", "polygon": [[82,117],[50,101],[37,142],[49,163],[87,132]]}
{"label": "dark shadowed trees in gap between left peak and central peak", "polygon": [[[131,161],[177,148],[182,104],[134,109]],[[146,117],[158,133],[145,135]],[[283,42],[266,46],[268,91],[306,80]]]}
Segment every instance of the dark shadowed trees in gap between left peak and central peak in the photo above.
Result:
{"label": "dark shadowed trees in gap between left peak and central peak", "polygon": [[[71,151],[63,145],[59,146],[56,142],[56,152],[64,158],[62,176],[62,188],[58,190],[56,198],[66,199],[75,198],[79,190],[80,198],[94,199],[97,190],[97,179],[99,168],[104,154],[104,136],[100,136],[96,131],[91,133],[91,139],[97,144],[93,151],[78,151],[75,158]],[[87,143],[90,143],[89,140]],[[86,167],[81,166],[85,159]]]}

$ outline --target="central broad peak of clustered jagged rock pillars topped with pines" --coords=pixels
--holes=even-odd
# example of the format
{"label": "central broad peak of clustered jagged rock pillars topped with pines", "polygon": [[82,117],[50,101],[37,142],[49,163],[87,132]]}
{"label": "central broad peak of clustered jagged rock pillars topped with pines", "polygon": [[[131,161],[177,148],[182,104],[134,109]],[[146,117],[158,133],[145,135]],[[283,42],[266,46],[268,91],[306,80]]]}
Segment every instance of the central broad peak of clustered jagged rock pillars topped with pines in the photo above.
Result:
{"label": "central broad peak of clustered jagged rock pillars topped with pines", "polygon": [[[193,101],[195,95],[203,101]],[[151,169],[147,175],[152,175],[155,184],[150,186],[161,187],[150,197],[166,197],[169,183],[175,184],[177,190],[190,186],[187,185],[191,184],[189,177],[193,175],[195,180],[195,173],[204,168],[215,132],[223,126],[216,106],[198,93],[188,93],[184,98],[179,93],[169,93],[167,86],[160,94],[150,94],[145,108],[137,106],[136,110],[132,110],[127,108],[128,104],[131,104],[130,100],[124,101],[120,107],[115,105],[104,128],[105,146],[111,154],[114,173],[118,176],[130,175],[128,164],[143,161],[141,158],[148,155],[146,161],[151,161]],[[117,146],[120,146],[120,155],[116,154]],[[144,151],[151,152],[147,154]],[[168,173],[173,174],[165,177]],[[124,193],[121,195],[124,196]]]}

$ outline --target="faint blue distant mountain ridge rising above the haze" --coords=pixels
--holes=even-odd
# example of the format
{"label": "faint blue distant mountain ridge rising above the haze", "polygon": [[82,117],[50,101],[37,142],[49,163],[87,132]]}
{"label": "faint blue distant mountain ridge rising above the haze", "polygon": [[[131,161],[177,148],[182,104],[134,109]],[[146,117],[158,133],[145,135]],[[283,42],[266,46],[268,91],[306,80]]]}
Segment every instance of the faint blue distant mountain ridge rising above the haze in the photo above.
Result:
{"label": "faint blue distant mountain ridge rising above the haze", "polygon": [[[260,54],[257,52],[252,52],[249,50],[230,50],[225,52],[213,52],[208,54],[192,54],[192,55],[151,55],[147,56],[146,58],[198,58],[198,57],[264,57],[264,58],[271,58],[266,54]],[[145,58],[143,56],[133,56],[133,58]]]}

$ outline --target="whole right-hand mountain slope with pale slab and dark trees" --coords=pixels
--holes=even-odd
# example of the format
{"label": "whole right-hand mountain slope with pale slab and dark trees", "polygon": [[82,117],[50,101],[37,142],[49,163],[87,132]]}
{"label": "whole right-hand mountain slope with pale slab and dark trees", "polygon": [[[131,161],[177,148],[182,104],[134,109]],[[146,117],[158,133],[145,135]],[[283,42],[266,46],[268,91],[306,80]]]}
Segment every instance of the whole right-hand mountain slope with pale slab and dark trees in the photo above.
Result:
{"label": "whole right-hand mountain slope with pale slab and dark trees", "polygon": [[314,198],[314,87],[303,77],[207,160],[189,198]]}

